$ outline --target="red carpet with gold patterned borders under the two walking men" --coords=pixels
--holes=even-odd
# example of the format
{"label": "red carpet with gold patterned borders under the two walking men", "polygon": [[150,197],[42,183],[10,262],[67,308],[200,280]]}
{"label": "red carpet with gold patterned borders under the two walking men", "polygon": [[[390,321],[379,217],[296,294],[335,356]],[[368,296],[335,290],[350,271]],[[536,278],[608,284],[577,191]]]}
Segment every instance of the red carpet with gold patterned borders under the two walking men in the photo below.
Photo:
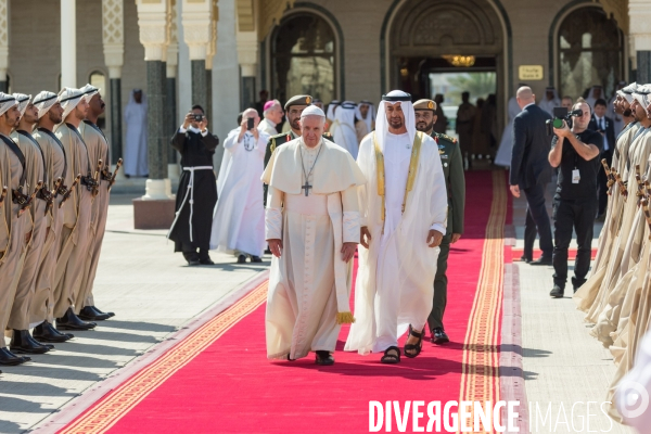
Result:
{"label": "red carpet with gold patterned borders under the two walking men", "polygon": [[[81,414],[66,433],[362,433],[369,400],[499,399],[507,188],[502,173],[467,175],[465,234],[450,253],[446,331],[397,366],[343,353],[269,361],[263,285]],[[403,339],[401,344],[404,344]],[[421,425],[426,424],[426,416]],[[411,432],[411,418],[407,432]],[[393,431],[397,432],[395,418]],[[384,427],[382,429],[384,432]]]}

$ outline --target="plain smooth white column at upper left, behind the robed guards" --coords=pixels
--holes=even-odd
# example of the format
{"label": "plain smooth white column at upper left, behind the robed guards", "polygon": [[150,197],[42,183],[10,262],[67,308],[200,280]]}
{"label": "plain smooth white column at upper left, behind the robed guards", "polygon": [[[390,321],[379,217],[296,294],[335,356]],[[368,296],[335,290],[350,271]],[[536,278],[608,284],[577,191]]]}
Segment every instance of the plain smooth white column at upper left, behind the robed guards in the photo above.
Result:
{"label": "plain smooth white column at upper left, behind the robed guards", "polygon": [[61,0],[61,87],[77,85],[76,0]]}

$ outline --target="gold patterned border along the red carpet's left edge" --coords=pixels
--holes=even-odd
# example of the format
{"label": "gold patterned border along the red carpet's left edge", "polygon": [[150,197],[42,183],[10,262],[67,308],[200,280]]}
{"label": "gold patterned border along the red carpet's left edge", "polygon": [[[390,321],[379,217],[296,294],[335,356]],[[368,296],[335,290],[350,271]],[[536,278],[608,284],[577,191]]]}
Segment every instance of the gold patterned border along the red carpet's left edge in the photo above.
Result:
{"label": "gold patterned border along the red carpet's left edge", "polygon": [[104,433],[158,385],[235,326],[267,299],[268,281],[260,283],[238,303],[206,322],[199,330],[112,392],[95,407],[60,433]]}

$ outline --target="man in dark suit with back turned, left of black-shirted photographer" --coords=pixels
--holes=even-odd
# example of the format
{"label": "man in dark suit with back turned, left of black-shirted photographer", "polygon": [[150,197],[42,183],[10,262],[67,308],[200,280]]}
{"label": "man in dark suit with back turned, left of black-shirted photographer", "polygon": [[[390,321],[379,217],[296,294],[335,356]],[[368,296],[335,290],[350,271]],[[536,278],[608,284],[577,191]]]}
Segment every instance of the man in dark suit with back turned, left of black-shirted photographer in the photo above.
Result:
{"label": "man in dark suit with back turned, left of black-shirted photographer", "polygon": [[528,86],[518,89],[518,105],[522,112],[513,119],[513,151],[511,154],[511,173],[509,183],[511,193],[520,197],[524,191],[527,202],[527,213],[531,214],[538,235],[542,256],[531,260],[531,265],[551,265],[553,243],[551,241],[551,225],[545,190],[551,181],[551,166],[547,159],[551,145],[551,136],[545,125],[551,115],[536,105],[536,95]]}

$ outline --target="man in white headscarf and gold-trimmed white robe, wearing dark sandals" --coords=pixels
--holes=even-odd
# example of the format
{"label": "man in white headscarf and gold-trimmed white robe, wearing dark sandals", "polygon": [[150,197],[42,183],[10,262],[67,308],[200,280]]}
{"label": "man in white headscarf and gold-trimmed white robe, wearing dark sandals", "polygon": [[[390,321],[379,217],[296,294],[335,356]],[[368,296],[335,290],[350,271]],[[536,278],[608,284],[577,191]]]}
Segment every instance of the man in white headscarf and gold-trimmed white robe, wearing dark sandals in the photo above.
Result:
{"label": "man in white headscarf and gold-trimmed white robe, wearing dark sandals", "polygon": [[357,164],[367,182],[359,189],[356,322],[345,350],[383,352],[382,362],[397,363],[398,337],[407,329],[405,356],[421,352],[447,219],[438,146],[417,132],[410,94],[382,97],[375,131],[361,141]]}

